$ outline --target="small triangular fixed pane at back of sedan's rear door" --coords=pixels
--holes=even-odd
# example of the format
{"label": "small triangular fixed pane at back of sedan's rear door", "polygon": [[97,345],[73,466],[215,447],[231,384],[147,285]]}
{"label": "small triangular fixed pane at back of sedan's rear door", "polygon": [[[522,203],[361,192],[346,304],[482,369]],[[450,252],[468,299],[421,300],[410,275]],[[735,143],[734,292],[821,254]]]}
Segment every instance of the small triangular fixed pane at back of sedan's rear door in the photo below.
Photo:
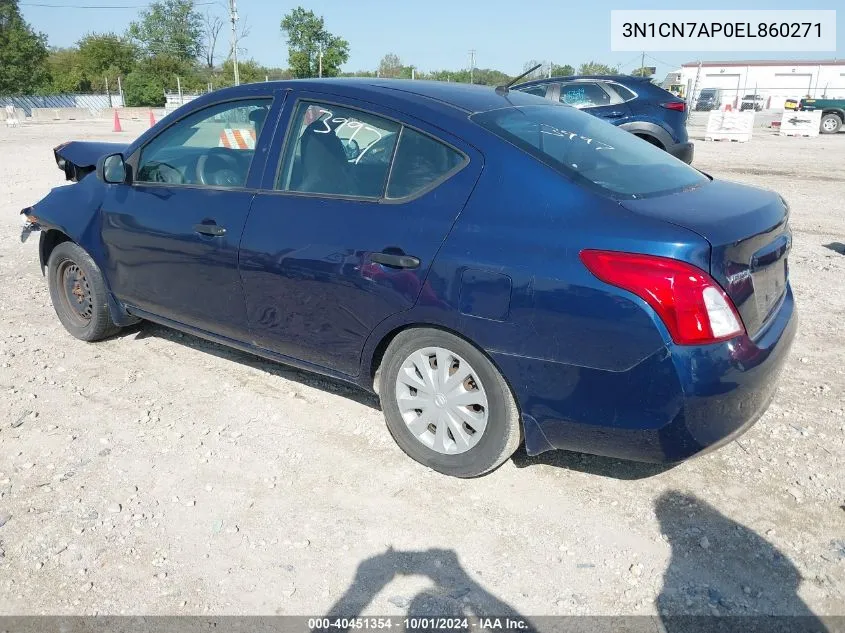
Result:
{"label": "small triangular fixed pane at back of sedan's rear door", "polygon": [[405,198],[437,182],[464,163],[462,154],[438,140],[404,127],[387,185],[388,198]]}

